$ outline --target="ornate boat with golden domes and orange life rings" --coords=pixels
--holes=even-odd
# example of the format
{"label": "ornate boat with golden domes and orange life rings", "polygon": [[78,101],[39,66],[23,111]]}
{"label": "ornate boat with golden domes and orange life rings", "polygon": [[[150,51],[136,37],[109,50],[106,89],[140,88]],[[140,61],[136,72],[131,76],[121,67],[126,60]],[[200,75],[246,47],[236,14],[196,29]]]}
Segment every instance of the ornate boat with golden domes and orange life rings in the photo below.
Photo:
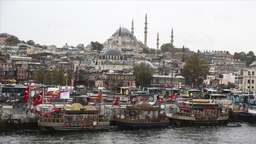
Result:
{"label": "ornate boat with golden domes and orange life rings", "polygon": [[108,130],[108,117],[102,117],[99,109],[80,103],[73,103],[70,107],[53,107],[51,111],[39,117],[38,126],[43,132],[70,132]]}

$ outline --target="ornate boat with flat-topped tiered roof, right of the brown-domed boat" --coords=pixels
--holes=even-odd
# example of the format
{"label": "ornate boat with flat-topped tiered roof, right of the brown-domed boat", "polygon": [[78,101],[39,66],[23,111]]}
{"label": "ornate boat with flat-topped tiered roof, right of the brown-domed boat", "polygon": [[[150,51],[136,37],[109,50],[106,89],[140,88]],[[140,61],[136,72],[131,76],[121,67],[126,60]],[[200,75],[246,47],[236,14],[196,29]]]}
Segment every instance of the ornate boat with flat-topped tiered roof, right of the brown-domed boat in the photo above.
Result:
{"label": "ornate boat with flat-topped tiered roof, right of the brown-domed boat", "polygon": [[193,97],[192,101],[177,104],[180,111],[172,112],[172,119],[178,126],[225,126],[229,121],[229,113],[224,107]]}

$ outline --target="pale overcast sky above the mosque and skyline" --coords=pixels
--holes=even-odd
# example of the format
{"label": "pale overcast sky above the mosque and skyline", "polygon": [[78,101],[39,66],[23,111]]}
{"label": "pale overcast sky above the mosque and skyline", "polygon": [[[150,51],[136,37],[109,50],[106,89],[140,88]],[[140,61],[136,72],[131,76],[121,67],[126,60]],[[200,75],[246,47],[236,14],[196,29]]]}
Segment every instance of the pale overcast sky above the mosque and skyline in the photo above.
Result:
{"label": "pale overcast sky above the mosque and skyline", "polygon": [[[192,51],[225,50],[256,53],[255,0],[0,0],[0,33],[41,45],[85,46],[104,43],[119,28],[144,43],[145,15],[149,48],[171,43]],[[160,47],[159,46],[159,47]]]}

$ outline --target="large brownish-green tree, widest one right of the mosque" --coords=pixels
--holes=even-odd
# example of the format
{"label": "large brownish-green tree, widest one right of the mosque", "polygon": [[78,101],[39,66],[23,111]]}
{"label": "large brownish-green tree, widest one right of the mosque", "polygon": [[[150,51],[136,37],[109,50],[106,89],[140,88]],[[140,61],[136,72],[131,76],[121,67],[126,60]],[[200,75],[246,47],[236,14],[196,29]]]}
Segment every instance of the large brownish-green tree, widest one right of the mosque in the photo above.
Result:
{"label": "large brownish-green tree, widest one right of the mosque", "polygon": [[188,57],[184,69],[181,70],[181,75],[185,77],[186,84],[202,85],[203,80],[207,79],[210,75],[210,67],[205,60],[199,59],[199,55],[195,53],[193,56]]}

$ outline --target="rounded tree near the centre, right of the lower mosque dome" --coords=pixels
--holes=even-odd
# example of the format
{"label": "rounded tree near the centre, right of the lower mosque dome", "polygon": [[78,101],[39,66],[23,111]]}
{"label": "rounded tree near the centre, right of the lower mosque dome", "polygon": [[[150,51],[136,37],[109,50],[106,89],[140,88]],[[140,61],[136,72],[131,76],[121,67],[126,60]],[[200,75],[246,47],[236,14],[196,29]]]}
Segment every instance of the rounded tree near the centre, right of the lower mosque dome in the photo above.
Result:
{"label": "rounded tree near the centre, right of the lower mosque dome", "polygon": [[135,76],[135,80],[139,81],[139,84],[144,87],[150,85],[153,80],[154,68],[152,68],[149,64],[142,62],[139,64],[133,65],[133,71]]}

